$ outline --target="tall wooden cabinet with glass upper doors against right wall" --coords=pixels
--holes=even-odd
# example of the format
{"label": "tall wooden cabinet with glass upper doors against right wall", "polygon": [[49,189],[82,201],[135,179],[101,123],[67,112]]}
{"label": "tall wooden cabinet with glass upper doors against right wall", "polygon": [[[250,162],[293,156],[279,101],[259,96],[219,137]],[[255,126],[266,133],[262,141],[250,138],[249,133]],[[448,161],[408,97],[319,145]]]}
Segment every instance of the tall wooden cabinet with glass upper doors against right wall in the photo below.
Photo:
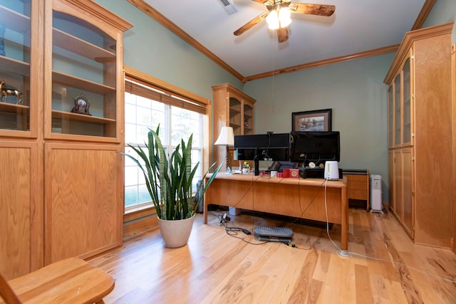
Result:
{"label": "tall wooden cabinet with glass upper doors against right wall", "polygon": [[390,209],[415,243],[450,248],[452,23],[405,34],[388,88]]}

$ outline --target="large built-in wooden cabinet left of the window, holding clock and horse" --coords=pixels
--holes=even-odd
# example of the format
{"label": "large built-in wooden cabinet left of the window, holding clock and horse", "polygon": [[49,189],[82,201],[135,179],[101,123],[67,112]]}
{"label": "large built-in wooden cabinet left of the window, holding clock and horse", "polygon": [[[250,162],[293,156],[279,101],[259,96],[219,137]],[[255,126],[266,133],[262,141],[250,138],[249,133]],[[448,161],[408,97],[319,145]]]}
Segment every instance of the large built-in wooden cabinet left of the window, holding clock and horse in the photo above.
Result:
{"label": "large built-in wooden cabinet left of the window, holding clock and horse", "polygon": [[[0,4],[0,272],[120,246],[123,31],[91,0]],[[15,93],[16,92],[16,93]]]}

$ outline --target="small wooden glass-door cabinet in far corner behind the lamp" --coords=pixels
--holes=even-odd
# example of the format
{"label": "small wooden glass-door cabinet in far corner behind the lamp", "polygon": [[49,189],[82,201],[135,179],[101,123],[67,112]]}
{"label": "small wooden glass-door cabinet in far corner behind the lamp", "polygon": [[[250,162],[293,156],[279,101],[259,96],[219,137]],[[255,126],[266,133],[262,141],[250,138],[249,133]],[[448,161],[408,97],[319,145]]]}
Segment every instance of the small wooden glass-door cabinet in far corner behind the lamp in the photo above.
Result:
{"label": "small wooden glass-door cabinet in far corner behind the lamp", "polygon": [[[222,127],[232,127],[234,135],[254,134],[254,104],[249,95],[241,92],[229,83],[214,85],[214,141]],[[221,164],[225,160],[226,147],[215,146],[214,162]],[[229,149],[229,167],[239,166],[234,162],[233,149]]]}

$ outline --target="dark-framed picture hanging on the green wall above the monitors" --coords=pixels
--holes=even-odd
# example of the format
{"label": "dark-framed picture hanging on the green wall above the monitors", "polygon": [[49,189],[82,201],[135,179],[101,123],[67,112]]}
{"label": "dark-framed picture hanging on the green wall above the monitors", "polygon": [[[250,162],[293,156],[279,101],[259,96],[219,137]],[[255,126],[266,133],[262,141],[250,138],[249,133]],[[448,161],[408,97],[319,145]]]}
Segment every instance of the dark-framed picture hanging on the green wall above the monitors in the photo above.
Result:
{"label": "dark-framed picture hanging on the green wall above the monitors", "polygon": [[332,131],[332,109],[292,112],[291,130],[296,132]]}

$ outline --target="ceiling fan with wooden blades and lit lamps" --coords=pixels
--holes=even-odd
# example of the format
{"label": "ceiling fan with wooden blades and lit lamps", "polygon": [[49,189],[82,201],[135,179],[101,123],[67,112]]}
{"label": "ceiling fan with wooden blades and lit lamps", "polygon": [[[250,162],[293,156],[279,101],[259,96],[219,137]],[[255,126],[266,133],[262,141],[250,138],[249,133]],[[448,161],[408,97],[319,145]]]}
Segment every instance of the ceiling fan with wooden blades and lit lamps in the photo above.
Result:
{"label": "ceiling fan with wooden blades and lit lamps", "polygon": [[252,26],[266,19],[269,28],[277,30],[277,38],[279,42],[288,40],[287,26],[291,23],[290,15],[309,14],[316,16],[331,16],[336,11],[336,6],[324,4],[306,4],[306,3],[291,3],[291,0],[252,0],[266,5],[267,11],[264,11],[259,16],[241,26],[234,35],[239,36]]}

